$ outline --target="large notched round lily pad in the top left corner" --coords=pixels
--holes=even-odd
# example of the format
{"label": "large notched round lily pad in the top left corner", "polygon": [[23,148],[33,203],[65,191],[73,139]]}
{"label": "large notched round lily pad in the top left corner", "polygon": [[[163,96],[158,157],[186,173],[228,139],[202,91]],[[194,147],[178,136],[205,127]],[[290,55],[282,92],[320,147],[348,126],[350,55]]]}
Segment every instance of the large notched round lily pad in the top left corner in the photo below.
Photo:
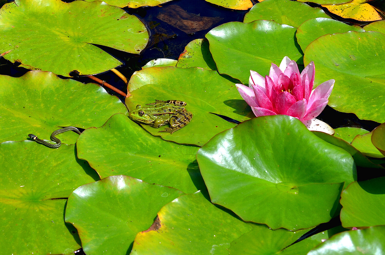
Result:
{"label": "large notched round lily pad in the top left corner", "polygon": [[15,0],[1,8],[0,17],[0,52],[10,51],[6,59],[63,76],[122,64],[94,44],[139,53],[149,40],[137,17],[101,1]]}

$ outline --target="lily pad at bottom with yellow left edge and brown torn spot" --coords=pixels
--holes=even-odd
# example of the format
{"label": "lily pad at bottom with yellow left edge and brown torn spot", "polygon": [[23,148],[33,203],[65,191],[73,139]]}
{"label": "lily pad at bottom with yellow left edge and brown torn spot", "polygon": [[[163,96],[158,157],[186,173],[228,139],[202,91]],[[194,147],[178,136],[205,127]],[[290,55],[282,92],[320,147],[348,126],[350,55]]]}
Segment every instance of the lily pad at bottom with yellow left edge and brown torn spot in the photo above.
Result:
{"label": "lily pad at bottom with yellow left edge and brown torn spot", "polygon": [[231,241],[251,230],[199,191],[166,204],[158,218],[156,231],[137,234],[131,255],[227,255]]}

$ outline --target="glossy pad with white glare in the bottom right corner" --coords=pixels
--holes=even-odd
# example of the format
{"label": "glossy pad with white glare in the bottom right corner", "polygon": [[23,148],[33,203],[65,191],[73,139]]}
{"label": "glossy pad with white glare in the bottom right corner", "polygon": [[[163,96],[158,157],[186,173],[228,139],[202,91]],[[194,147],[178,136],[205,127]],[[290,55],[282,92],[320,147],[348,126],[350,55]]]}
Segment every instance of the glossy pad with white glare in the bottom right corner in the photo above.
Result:
{"label": "glossy pad with white glare in the bottom right corner", "polygon": [[385,226],[338,233],[311,250],[308,255],[381,254],[385,246]]}

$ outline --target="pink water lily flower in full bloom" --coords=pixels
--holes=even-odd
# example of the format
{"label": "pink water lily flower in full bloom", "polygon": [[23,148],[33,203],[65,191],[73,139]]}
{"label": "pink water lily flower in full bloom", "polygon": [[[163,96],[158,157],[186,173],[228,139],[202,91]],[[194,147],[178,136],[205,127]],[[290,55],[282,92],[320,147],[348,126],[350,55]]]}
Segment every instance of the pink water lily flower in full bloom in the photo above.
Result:
{"label": "pink water lily flower in full bloom", "polygon": [[236,86],[256,117],[284,114],[306,122],[317,117],[328,104],[335,82],[330,79],[312,91],[314,72],[313,61],[300,74],[297,63],[284,57],[279,68],[271,63],[268,76],[250,70],[249,86]]}

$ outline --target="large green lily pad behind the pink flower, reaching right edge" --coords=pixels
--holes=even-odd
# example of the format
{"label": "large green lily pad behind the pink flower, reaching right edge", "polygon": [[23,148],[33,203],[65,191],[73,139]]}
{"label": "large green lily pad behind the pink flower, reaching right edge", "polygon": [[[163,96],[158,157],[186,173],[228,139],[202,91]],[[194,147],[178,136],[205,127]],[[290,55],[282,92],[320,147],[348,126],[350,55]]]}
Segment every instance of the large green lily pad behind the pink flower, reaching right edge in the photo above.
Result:
{"label": "large green lily pad behind the pink flower, reaching right edge", "polygon": [[[335,79],[329,105],[358,118],[385,122],[385,34],[355,32],[324,35],[305,50],[305,64],[314,61],[315,83]],[[325,54],[328,52],[328,54]]]}

